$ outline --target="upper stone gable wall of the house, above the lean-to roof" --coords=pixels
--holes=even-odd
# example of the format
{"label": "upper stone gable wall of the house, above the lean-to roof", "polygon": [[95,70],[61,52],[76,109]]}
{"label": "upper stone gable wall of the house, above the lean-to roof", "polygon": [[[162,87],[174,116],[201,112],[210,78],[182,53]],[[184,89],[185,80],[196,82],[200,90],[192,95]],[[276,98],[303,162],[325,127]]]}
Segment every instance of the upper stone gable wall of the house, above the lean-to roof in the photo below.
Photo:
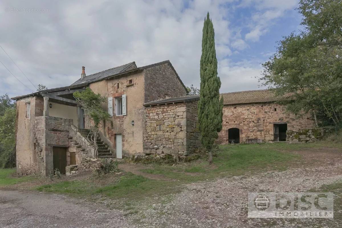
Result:
{"label": "upper stone gable wall of the house, above the lean-to roof", "polygon": [[161,64],[144,70],[145,102],[186,95],[186,90],[168,64]]}

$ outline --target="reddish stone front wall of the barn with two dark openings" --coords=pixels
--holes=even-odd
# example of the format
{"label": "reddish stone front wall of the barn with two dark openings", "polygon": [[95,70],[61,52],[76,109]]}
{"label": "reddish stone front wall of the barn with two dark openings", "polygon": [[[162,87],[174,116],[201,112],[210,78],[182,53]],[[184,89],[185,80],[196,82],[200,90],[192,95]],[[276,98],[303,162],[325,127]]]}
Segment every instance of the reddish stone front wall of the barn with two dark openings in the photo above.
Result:
{"label": "reddish stone front wall of the barn with two dark openings", "polygon": [[[276,111],[274,110],[276,108]],[[314,127],[310,116],[298,117],[286,112],[286,106],[276,103],[225,105],[223,107],[223,128],[218,143],[228,143],[228,129],[240,129],[240,143],[246,139],[273,141],[273,123],[287,123],[288,130]]]}

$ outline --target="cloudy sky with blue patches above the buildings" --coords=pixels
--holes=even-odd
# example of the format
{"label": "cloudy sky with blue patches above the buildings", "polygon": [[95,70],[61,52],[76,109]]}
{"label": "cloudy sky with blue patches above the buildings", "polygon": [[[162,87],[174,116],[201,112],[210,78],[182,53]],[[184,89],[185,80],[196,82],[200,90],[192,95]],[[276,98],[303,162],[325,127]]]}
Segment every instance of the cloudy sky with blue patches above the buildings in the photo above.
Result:
{"label": "cloudy sky with blue patches above the buildings", "polygon": [[[277,41],[300,28],[298,0],[1,1],[0,95],[67,86],[135,61],[170,60],[185,85],[199,87],[204,18],[215,29],[220,92],[259,87],[261,64]],[[31,12],[30,12],[31,11]],[[30,81],[33,85],[30,83]]]}

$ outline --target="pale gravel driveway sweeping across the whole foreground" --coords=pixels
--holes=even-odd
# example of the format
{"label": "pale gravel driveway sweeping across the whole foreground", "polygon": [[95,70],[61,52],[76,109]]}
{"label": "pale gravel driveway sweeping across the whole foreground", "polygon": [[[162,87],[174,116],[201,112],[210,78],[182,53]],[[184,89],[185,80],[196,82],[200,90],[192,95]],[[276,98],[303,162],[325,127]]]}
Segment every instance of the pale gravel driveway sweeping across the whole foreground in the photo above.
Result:
{"label": "pale gravel driveway sweeping across the whole foreground", "polygon": [[187,184],[172,197],[151,196],[133,203],[134,212],[129,215],[104,204],[62,195],[0,191],[0,227],[342,227],[341,216],[325,220],[247,218],[248,192],[304,192],[342,181],[340,152],[334,158],[323,157],[313,166]]}

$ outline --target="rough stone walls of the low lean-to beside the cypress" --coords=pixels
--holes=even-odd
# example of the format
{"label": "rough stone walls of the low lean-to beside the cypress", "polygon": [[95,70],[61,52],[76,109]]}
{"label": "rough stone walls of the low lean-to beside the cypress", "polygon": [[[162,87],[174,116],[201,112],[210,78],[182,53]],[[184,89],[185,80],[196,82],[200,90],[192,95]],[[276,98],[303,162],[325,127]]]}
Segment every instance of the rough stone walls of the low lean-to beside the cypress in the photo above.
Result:
{"label": "rough stone walls of the low lean-to beside the cypress", "polygon": [[144,154],[189,155],[199,147],[197,102],[145,108]]}

